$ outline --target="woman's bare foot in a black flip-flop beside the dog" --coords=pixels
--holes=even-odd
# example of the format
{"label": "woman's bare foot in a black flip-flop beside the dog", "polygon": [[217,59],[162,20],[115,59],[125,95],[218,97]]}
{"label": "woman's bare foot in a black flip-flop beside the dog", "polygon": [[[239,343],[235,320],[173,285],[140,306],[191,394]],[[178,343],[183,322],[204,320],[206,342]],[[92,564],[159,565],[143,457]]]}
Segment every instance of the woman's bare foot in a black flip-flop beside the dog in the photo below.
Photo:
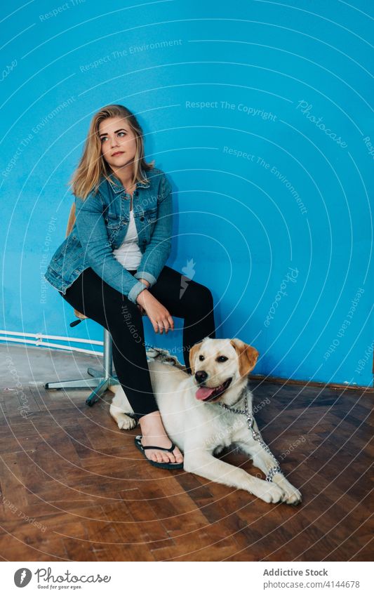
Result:
{"label": "woman's bare foot in a black flip-flop beside the dog", "polygon": [[[141,416],[139,418],[140,428],[142,429],[142,446],[158,445],[160,447],[171,447],[171,439],[166,435],[165,428],[161,420],[159,410]],[[183,456],[178,447],[171,451],[159,451],[158,449],[146,449],[145,455],[152,461],[164,463],[182,463]]]}

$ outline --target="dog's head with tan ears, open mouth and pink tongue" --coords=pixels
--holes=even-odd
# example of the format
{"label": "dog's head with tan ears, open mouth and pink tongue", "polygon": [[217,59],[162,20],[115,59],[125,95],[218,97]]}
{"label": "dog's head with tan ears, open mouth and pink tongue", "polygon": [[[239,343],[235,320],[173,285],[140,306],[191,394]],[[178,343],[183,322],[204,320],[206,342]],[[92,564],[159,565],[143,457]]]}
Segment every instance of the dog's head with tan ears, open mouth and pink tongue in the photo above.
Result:
{"label": "dog's head with tan ears, open mouth and pink tongue", "polygon": [[236,402],[258,359],[255,347],[238,338],[204,338],[189,350],[189,366],[201,402]]}

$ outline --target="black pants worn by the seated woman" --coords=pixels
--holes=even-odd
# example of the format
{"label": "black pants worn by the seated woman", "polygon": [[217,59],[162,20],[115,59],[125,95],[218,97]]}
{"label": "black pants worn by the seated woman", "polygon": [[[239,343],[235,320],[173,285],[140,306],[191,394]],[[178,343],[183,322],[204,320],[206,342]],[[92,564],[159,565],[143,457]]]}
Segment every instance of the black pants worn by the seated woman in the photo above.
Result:
{"label": "black pants worn by the seated woman", "polygon": [[[172,317],[185,319],[183,355],[190,373],[190,348],[204,337],[215,338],[211,291],[165,265],[149,292]],[[138,306],[104,282],[91,267],[79,275],[65,295],[60,294],[72,307],[111,334],[116,375],[136,416],[158,410],[147,366],[144,327]],[[169,333],[175,331],[169,330]]]}

